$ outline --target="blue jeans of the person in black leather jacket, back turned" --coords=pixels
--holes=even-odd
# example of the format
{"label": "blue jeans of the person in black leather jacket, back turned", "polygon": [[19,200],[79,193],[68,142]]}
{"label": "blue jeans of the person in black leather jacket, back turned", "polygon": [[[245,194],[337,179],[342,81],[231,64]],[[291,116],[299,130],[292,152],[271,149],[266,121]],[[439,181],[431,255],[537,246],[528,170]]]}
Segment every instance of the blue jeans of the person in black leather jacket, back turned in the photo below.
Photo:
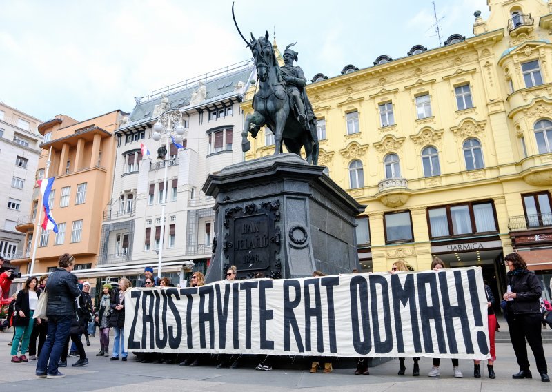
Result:
{"label": "blue jeans of the person in black leather jacket, back turned", "polygon": [[[48,333],[46,342],[37,361],[37,374],[57,373],[57,363],[61,357],[61,351],[71,331],[72,316],[48,316]],[[46,367],[48,366],[48,372]]]}

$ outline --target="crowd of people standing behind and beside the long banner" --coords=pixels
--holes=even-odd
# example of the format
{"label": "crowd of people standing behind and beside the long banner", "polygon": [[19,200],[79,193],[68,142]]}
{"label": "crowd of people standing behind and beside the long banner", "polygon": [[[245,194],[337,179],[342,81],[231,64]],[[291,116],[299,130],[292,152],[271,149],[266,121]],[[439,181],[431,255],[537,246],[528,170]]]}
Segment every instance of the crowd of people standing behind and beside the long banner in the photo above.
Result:
{"label": "crowd of people standing behind and beside the long banner", "polygon": [[[549,382],[546,359],[542,346],[541,324],[542,307],[540,299],[542,288],[538,277],[527,269],[524,259],[519,253],[511,253],[504,258],[509,268],[507,273],[508,291],[503,295],[502,307],[504,316],[509,326],[512,346],[517,358],[520,371],[512,375],[513,379],[532,378],[529,370],[529,359],[526,344],[529,344],[535,357],[536,369],[540,373],[543,382]],[[128,353],[124,348],[125,331],[125,293],[132,288],[132,283],[125,277],[121,278],[115,287],[110,283],[103,284],[99,302],[93,311],[90,297],[90,284],[79,284],[77,277],[71,273],[75,259],[68,253],[59,257],[59,266],[50,275],[39,278],[28,277],[23,288],[14,295],[8,310],[8,326],[14,326],[14,337],[11,342],[11,362],[28,362],[26,356],[32,360],[37,359],[35,377],[37,378],[61,378],[63,373],[60,367],[67,366],[67,357],[71,354],[78,355],[79,359],[71,366],[79,367],[88,364],[88,357],[81,337],[86,338],[87,346],[90,346],[89,335],[95,335],[96,326],[99,328],[100,350],[96,356],[110,357],[115,361],[126,361]],[[444,262],[438,257],[433,259],[431,270],[436,273],[446,268]],[[392,274],[407,273],[413,271],[404,262],[398,261],[391,267]],[[358,271],[353,270],[353,273]],[[313,277],[323,277],[321,271],[314,271]],[[226,280],[233,281],[237,277],[237,268],[230,266],[226,271]],[[257,273],[255,278],[264,278],[264,274]],[[204,275],[199,271],[192,273],[190,286],[204,285]],[[144,279],[139,281],[139,286],[144,288],[168,288],[174,286],[168,277],[154,277],[153,268],[147,266],[144,269]],[[499,324],[493,306],[495,297],[487,284],[484,286],[487,298],[488,325],[489,325],[489,353],[491,358],[487,360],[487,374],[490,379],[495,379],[494,362],[495,331]],[[46,319],[33,318],[34,311],[41,295],[47,295]],[[38,313],[37,313],[38,315]],[[110,349],[110,329],[113,329],[112,353]],[[38,339],[38,348],[37,348]],[[69,349],[69,342],[72,348]],[[20,355],[18,355],[20,353]],[[179,364],[180,366],[201,366],[213,364],[219,368],[228,367],[235,369],[240,364],[241,355],[219,354],[208,355],[200,353],[175,354],[175,353],[137,353],[137,362],[156,364]],[[419,357],[413,357],[413,376],[420,375]],[[270,371],[274,357],[270,355],[257,355],[257,370]],[[473,377],[482,377],[480,369],[481,360],[473,361]],[[454,377],[463,377],[458,360],[452,360]],[[323,369],[324,373],[333,370],[330,357],[313,357],[311,361],[311,373]],[[398,375],[406,373],[405,358],[399,358]],[[357,359],[355,375],[369,375],[368,358]],[[433,359],[433,367],[428,372],[429,377],[440,375],[440,359]]]}

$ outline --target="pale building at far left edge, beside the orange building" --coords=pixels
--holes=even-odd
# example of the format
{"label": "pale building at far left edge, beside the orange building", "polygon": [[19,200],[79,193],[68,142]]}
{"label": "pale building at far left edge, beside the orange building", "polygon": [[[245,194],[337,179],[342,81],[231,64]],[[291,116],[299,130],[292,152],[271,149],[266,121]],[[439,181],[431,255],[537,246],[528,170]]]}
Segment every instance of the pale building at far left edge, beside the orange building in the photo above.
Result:
{"label": "pale building at far left edge, beside the orange building", "polygon": [[41,174],[36,171],[43,139],[37,130],[41,122],[0,101],[0,255],[6,260],[19,258],[27,248],[22,244],[25,235],[15,226],[35,219],[29,211],[35,177]]}

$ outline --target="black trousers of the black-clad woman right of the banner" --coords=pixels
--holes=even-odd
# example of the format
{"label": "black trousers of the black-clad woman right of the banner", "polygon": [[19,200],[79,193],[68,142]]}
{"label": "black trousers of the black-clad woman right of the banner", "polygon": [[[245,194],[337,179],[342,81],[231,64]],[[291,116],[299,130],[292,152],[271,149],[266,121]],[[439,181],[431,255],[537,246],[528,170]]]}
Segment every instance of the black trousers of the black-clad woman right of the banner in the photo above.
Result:
{"label": "black trousers of the black-clad woman right of the banner", "polygon": [[533,351],[535,362],[537,362],[537,371],[539,373],[548,373],[544,349],[542,348],[541,336],[542,316],[538,313],[529,313],[526,315],[508,315],[508,328],[510,329],[510,340],[513,351],[517,358],[517,364],[520,369],[529,370],[529,359],[527,358],[527,343]]}

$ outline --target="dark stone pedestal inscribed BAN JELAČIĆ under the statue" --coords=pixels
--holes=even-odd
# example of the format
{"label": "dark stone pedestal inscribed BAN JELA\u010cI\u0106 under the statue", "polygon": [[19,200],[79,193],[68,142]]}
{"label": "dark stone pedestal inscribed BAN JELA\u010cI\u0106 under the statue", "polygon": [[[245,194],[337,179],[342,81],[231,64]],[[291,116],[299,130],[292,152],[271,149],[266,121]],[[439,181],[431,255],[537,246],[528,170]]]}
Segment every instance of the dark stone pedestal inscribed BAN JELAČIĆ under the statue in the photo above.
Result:
{"label": "dark stone pedestal inscribed BAN JELA\u010cI\u0106 under the statue", "polygon": [[359,268],[355,217],[364,211],[323,173],[295,154],[227,166],[208,176],[203,191],[216,199],[215,241],[206,282],[308,277]]}

